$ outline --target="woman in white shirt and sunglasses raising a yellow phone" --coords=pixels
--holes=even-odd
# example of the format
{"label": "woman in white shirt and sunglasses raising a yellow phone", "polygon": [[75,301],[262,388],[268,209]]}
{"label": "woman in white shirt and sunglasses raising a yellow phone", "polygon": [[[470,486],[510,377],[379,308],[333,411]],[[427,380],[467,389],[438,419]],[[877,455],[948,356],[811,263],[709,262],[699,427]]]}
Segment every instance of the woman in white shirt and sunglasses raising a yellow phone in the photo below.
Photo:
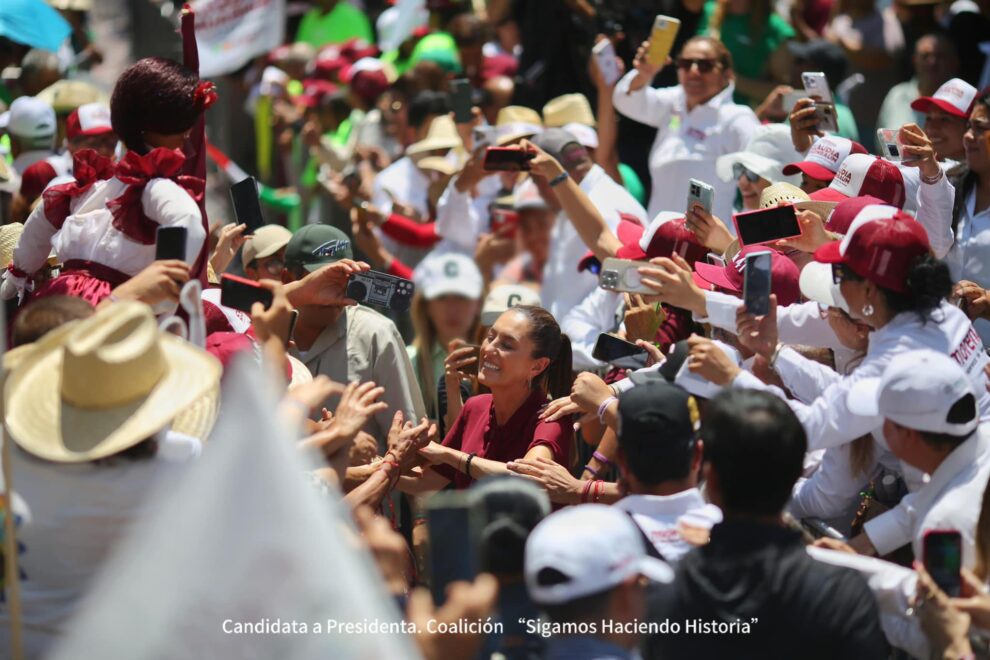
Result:
{"label": "woman in white shirt and sunglasses raising a yellow phone", "polygon": [[621,114],[657,128],[650,149],[653,186],[647,211],[655,217],[672,200],[683,198],[691,179],[698,179],[715,187],[713,214],[729,218],[735,182],[718,178],[715,161],[742,151],[759,126],[750,108],[732,100],[732,55],[718,39],[693,37],[674,61],[678,84],[654,89],[650,84],[663,65],[651,64],[648,51],[649,42],[644,42],[633,70],[612,94]]}

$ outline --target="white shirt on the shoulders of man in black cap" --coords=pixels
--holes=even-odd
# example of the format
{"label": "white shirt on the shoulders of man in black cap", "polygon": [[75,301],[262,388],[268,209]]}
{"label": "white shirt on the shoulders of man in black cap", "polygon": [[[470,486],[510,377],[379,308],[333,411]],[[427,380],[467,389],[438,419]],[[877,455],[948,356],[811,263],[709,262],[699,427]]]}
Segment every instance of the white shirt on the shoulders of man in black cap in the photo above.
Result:
{"label": "white shirt on the shoulders of man in black cap", "polygon": [[614,506],[632,515],[660,556],[672,563],[694,549],[681,536],[678,523],[711,529],[722,522],[722,510],[706,503],[697,488],[673,495],[627,495]]}

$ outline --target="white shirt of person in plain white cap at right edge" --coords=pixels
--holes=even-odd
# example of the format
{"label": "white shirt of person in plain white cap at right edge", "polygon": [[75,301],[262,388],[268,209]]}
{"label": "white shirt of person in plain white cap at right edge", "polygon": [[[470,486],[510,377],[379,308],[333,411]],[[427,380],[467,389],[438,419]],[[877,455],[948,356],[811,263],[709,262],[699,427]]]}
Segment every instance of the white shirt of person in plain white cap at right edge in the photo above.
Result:
{"label": "white shirt of person in plain white cap at right edge", "polygon": [[925,532],[952,529],[962,536],[963,566],[972,568],[976,561],[976,523],[990,477],[988,451],[990,427],[981,424],[976,433],[945,457],[928,483],[907,495],[894,509],[868,521],[863,528],[877,552],[887,554],[910,540],[914,556],[920,558],[924,555]]}

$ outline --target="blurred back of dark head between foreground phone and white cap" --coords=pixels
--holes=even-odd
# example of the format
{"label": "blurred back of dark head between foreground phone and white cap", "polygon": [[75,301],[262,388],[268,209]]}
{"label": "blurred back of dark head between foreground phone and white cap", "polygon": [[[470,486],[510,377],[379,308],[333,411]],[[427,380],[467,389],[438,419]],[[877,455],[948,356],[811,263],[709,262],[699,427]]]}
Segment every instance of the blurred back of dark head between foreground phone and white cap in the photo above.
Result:
{"label": "blurred back of dark head between foreground phone and white cap", "polygon": [[482,511],[481,570],[513,576],[523,572],[526,539],[550,515],[546,491],[510,475],[488,477],[471,487]]}

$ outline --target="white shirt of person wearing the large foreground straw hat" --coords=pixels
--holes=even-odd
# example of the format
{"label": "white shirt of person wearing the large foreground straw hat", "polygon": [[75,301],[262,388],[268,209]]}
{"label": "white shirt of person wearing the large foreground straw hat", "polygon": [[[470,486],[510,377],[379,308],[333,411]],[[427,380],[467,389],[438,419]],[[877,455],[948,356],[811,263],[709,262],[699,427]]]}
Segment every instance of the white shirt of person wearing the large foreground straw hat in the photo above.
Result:
{"label": "white shirt of person wearing the large foreground straw hat", "polygon": [[[26,657],[44,655],[61,634],[128,524],[149,504],[145,494],[162,479],[176,479],[201,448],[173,432],[164,434],[155,457],[110,464],[52,463],[11,448]],[[9,630],[0,603],[0,649],[10,648]]]}

